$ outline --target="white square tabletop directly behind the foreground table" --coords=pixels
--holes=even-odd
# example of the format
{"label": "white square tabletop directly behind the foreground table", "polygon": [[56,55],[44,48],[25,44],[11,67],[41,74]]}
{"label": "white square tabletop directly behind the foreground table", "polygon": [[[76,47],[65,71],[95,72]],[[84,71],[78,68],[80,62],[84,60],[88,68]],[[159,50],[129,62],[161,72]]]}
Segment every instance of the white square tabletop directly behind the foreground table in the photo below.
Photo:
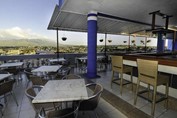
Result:
{"label": "white square tabletop directly behind the foreground table", "polygon": [[57,72],[62,65],[55,65],[55,66],[40,66],[39,68],[36,68],[32,70],[31,72]]}

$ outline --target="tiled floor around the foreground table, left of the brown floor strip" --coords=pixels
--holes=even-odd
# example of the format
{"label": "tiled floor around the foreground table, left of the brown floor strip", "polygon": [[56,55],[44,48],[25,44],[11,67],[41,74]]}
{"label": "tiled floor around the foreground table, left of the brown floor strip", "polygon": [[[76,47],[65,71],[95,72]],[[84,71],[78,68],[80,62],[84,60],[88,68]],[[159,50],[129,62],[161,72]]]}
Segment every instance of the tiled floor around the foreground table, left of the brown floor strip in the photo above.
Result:
{"label": "tiled floor around the foreground table, left of the brown floor strip", "polygon": [[[22,82],[18,85],[14,85],[14,92],[18,99],[19,106],[16,105],[14,99],[9,96],[8,102],[3,109],[4,116],[0,118],[34,118],[35,112],[25,96],[24,92],[26,89],[26,79],[23,76]],[[3,103],[3,100],[1,101]],[[127,118],[124,114],[115,109],[112,105],[106,102],[104,99],[100,99],[98,108],[95,110],[101,118]],[[95,114],[93,112],[86,112],[85,114],[79,113],[79,118],[94,118]]]}

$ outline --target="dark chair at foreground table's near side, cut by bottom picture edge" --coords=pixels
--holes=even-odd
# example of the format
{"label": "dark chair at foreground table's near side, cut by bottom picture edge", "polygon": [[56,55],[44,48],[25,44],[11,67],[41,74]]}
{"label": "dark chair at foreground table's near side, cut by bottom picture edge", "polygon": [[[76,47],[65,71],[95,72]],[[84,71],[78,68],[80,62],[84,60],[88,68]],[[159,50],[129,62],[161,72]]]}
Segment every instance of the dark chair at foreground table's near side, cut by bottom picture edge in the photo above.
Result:
{"label": "dark chair at foreground table's near side, cut by bottom picture edge", "polygon": [[79,111],[79,102],[73,102],[73,108],[65,108],[62,110],[49,111],[47,118],[77,118]]}

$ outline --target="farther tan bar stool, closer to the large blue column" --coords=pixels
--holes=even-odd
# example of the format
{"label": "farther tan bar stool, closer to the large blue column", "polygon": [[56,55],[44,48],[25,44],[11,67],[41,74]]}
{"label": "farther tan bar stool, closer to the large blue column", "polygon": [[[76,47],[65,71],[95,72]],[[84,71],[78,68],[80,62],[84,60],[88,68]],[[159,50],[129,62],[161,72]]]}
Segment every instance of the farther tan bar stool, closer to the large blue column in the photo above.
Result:
{"label": "farther tan bar stool, closer to the large blue column", "polygon": [[[119,84],[121,95],[122,95],[123,85],[132,84],[132,90],[133,90],[133,80],[132,80],[133,67],[123,65],[123,56],[111,56],[111,62],[112,62],[111,88],[112,88],[112,83]],[[118,78],[118,79],[114,78],[115,72],[120,74],[120,78]],[[125,80],[126,82],[123,83],[123,79],[124,79],[123,73],[130,73],[130,75],[131,75],[130,81]]]}

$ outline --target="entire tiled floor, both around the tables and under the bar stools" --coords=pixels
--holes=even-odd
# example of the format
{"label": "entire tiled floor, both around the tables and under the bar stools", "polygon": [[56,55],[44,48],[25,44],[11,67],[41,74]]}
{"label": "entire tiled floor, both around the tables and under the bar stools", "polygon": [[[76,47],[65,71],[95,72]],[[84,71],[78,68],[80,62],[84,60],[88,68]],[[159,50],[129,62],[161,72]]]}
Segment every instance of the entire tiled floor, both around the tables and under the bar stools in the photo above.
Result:
{"label": "entire tiled floor, both around the tables and under the bar stools", "polygon": [[[104,86],[104,89],[108,90],[111,93],[114,93],[119,98],[123,99],[124,101],[128,102],[129,104],[133,105],[134,99],[134,92],[127,89],[128,87],[123,88],[123,94],[120,95],[119,86],[113,84],[111,89],[110,87],[110,78],[111,78],[111,71],[107,72],[100,72],[98,73],[101,77],[98,79],[94,79],[94,82],[98,82]],[[25,96],[24,91],[26,89],[26,78],[23,76],[22,82],[18,85],[14,86],[14,91],[16,97],[18,99],[19,106],[15,104],[15,101],[11,96],[8,97],[8,102],[4,111],[4,116],[0,116],[0,118],[34,118],[34,110],[30,105],[28,98]],[[3,103],[3,100],[1,101]],[[138,98],[136,108],[142,110],[143,112],[150,114],[150,103],[147,101]],[[100,118],[126,118],[128,115],[121,113],[115,107],[113,107],[110,103],[106,100],[101,98],[98,108],[96,109],[96,113]],[[130,116],[129,116],[130,117]],[[166,110],[162,104],[157,104],[155,117],[157,118],[177,118],[177,111],[173,111],[171,109]],[[86,112],[84,115],[79,113],[79,118],[94,118],[93,112]]]}

